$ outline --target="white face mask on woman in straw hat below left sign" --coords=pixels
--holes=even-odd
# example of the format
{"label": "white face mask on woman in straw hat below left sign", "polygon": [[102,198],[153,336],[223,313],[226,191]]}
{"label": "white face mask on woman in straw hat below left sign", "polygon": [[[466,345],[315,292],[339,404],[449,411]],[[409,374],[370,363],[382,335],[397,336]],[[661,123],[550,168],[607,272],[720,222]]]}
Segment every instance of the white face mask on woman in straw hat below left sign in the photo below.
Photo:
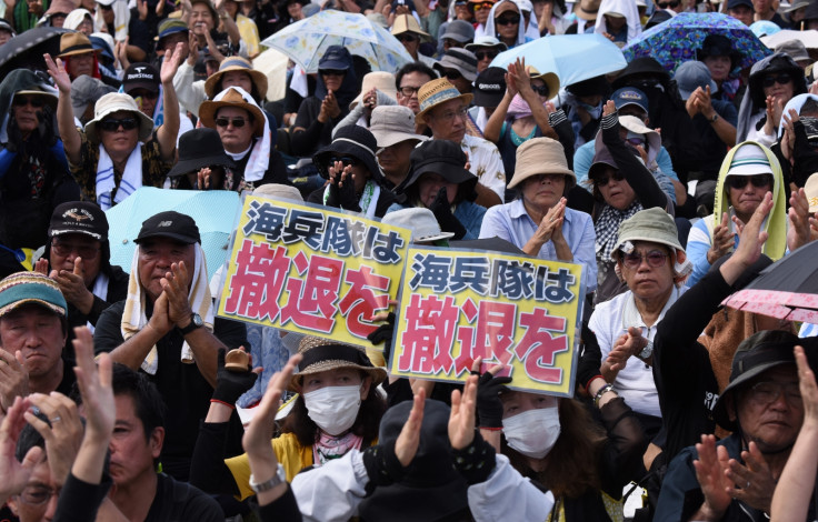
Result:
{"label": "white face mask on woman in straw hat below left sign", "polygon": [[303,394],[307,414],[318,428],[338,435],[352,428],[361,408],[361,385],[323,387]]}

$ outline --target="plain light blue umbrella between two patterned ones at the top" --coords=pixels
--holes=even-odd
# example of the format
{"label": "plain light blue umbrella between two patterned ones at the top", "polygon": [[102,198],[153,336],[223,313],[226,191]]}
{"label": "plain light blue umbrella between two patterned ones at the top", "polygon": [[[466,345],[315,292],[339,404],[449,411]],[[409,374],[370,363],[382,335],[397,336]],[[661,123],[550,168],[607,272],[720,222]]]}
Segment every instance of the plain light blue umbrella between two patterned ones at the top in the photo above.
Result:
{"label": "plain light blue umbrella between two patterned ones at the top", "polygon": [[562,87],[619,71],[628,64],[614,42],[596,33],[538,38],[499,53],[491,67],[508,69],[517,58],[525,58],[526,66],[540,72],[553,72]]}

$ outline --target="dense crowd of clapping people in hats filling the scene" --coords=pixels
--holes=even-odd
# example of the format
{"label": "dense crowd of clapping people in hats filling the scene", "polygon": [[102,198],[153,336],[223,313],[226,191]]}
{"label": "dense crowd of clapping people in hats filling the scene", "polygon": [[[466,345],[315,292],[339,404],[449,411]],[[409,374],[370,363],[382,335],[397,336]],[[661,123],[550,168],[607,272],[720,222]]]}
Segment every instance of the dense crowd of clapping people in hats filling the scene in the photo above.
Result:
{"label": "dense crowd of clapping people in hats filling the scene", "polygon": [[[818,240],[815,0],[3,8],[0,56],[28,67],[0,80],[0,520],[818,516],[818,325],[722,304]],[[330,44],[273,99],[262,42],[322,10],[411,61]],[[794,36],[748,60],[714,31],[695,59],[568,84],[536,56],[492,67],[558,34],[625,48],[684,12]],[[59,51],[24,54],[42,27]],[[573,396],[479,358],[457,385],[390,374],[400,302],[366,349],[217,317],[190,215],[154,209],[112,264],[107,211],[142,187],[581,265]]]}

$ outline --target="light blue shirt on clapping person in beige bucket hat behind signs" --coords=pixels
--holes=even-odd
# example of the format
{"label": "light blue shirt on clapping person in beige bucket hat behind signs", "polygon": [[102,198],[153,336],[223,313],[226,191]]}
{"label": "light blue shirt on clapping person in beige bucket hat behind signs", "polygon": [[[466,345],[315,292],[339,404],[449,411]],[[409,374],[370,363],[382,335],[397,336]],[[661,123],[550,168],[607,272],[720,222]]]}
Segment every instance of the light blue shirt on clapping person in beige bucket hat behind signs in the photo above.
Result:
{"label": "light blue shirt on clapping person in beige bucket hat behind signs", "polygon": [[[486,211],[480,228],[480,238],[497,235],[509,243],[522,249],[533,237],[539,223],[535,223],[526,211],[522,200],[498,204]],[[566,209],[566,219],[562,222],[562,235],[573,254],[573,262],[582,265],[582,279],[586,292],[597,288],[597,257],[595,243],[597,233],[593,231],[593,220],[585,212]],[[552,241],[546,242],[539,253],[539,259],[557,261],[557,249]]]}

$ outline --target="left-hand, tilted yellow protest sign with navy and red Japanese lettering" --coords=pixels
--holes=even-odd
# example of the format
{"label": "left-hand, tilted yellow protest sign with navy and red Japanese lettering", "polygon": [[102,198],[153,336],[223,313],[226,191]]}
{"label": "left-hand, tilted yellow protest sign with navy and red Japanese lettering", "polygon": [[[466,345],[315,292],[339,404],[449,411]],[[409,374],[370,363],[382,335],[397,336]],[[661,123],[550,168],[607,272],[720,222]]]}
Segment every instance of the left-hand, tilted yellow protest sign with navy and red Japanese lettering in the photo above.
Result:
{"label": "left-hand, tilted yellow protest sign with navy and red Japanese lettering", "polygon": [[371,348],[410,231],[326,207],[248,195],[219,315]]}

